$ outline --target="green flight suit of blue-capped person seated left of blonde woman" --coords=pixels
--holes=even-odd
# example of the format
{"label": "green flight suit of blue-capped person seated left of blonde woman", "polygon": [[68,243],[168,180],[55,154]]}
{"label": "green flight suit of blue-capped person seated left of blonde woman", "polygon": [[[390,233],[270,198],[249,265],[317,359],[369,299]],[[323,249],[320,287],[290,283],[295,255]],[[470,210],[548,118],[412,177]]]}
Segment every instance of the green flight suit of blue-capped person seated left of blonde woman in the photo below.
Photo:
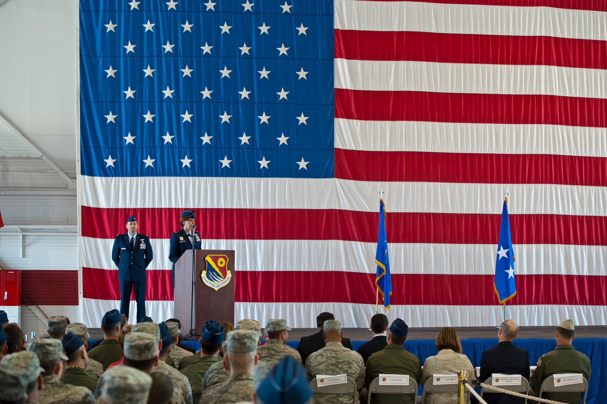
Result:
{"label": "green flight suit of blue-capped person seated left of blonde woman", "polygon": [[[381,351],[371,354],[367,359],[365,387],[368,389],[373,379],[380,373],[408,374],[409,378],[419,384],[421,364],[419,359],[402,345],[390,344]],[[373,394],[371,403],[376,404],[415,404],[416,394]]]}

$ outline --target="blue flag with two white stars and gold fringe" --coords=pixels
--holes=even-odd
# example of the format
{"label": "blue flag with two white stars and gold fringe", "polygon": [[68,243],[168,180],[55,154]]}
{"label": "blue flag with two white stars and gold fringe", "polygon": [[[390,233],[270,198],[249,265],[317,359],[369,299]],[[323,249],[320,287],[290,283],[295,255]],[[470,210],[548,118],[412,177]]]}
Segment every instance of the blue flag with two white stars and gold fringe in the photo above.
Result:
{"label": "blue flag with two white stars and gold fringe", "polygon": [[497,260],[495,261],[493,284],[500,305],[517,294],[517,284],[514,281],[514,254],[512,252],[512,238],[510,237],[510,220],[506,201],[504,201],[501,211],[500,240],[497,243]]}

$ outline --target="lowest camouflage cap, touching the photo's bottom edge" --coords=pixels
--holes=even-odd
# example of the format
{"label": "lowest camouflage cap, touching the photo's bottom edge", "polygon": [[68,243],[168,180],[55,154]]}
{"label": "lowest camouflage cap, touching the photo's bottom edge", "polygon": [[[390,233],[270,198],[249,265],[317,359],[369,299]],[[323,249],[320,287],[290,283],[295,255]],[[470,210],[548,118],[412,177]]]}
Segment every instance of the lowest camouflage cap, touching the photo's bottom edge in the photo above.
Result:
{"label": "lowest camouflage cap, touching the photo's bottom edge", "polygon": [[114,366],[104,374],[101,399],[107,404],[146,404],[152,378],[149,374],[130,366]]}

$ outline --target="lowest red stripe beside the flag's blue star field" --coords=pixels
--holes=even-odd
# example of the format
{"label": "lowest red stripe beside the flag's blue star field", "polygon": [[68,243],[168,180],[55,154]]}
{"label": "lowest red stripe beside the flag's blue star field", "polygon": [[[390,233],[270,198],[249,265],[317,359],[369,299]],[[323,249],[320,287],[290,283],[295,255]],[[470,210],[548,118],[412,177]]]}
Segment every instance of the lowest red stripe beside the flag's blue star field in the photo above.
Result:
{"label": "lowest red stripe beside the flag's blue star field", "polygon": [[335,149],[335,177],[356,181],[607,186],[607,158]]}

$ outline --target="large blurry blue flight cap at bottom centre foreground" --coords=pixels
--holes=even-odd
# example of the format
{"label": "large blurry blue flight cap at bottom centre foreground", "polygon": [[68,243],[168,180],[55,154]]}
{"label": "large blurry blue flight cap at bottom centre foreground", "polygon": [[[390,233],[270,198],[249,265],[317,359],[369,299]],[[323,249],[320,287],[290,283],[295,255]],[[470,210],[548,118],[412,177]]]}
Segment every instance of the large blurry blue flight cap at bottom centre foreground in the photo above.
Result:
{"label": "large blurry blue flight cap at bottom centre foreground", "polygon": [[256,394],[264,403],[304,404],[312,397],[312,389],[304,366],[286,355],[268,373]]}

